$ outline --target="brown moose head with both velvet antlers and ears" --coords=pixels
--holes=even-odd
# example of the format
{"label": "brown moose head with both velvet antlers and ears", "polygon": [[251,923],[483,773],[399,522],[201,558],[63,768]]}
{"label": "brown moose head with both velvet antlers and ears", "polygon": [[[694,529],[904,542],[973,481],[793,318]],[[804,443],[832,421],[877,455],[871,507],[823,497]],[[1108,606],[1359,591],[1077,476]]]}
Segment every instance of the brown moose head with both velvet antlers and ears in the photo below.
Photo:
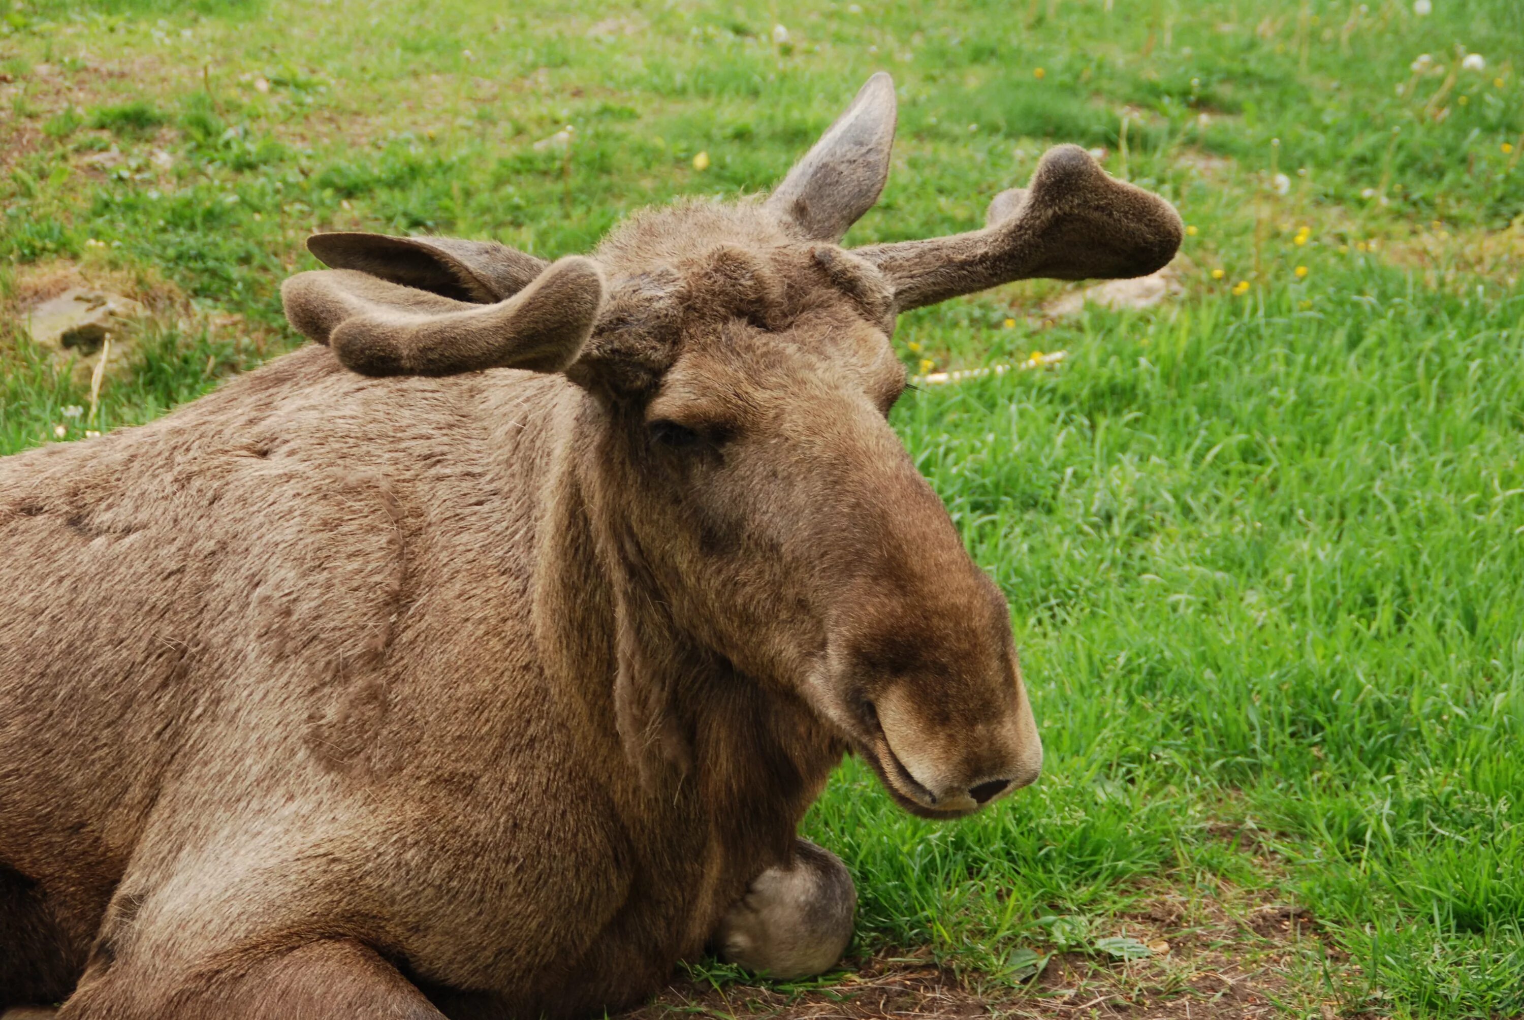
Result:
{"label": "brown moose head with both velvet antlers and ears", "polygon": [[565,380],[616,575],[626,747],[660,736],[677,697],[660,643],[681,640],[808,704],[904,808],[954,817],[1032,782],[1042,747],[1009,608],[888,425],[895,317],[1007,281],[1151,273],[1181,223],[1065,145],[981,230],[844,249],[895,116],[875,75],[767,198],[643,212],[587,258],[317,235],[334,268],[283,297],[355,372]]}

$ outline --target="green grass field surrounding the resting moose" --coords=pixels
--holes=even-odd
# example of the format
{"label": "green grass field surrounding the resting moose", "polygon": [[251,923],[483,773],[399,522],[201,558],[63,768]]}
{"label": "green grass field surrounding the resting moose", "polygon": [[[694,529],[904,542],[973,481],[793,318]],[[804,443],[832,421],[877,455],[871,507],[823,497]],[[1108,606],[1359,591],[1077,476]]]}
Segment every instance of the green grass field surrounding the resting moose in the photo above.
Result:
{"label": "green grass field surrounding the resting moose", "polygon": [[[67,366],[0,335],[0,451],[145,421],[294,343],[276,287],[314,227],[587,250],[631,209],[767,188],[876,69],[901,136],[852,242],[966,229],[1045,145],[1105,148],[1196,229],[1178,300],[1041,325],[1056,287],[1024,284],[901,322],[913,366],[1070,352],[895,415],[1010,598],[1049,758],[942,826],[849,762],[806,828],[858,878],[860,941],[998,985],[1029,950],[1096,950],[1151,890],[1227,883],[1315,912],[1358,964],[1327,977],[1349,1011],[1524,1012],[1524,8],[864,8],[0,15],[32,127],[0,180],[0,294],[67,259],[262,338],[160,323],[85,422]],[[535,151],[568,123],[568,159]]]}

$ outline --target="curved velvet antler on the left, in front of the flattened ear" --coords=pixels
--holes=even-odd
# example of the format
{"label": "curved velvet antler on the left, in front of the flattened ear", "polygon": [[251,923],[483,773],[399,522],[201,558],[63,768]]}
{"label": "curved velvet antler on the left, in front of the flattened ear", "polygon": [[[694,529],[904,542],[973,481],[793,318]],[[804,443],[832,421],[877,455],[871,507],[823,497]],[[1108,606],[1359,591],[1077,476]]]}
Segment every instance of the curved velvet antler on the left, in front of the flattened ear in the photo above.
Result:
{"label": "curved velvet antler on the left, in front of the flattened ear", "polygon": [[357,270],[317,270],[288,279],[280,297],[293,326],[364,375],[559,372],[593,332],[604,274],[570,256],[514,297],[474,305]]}

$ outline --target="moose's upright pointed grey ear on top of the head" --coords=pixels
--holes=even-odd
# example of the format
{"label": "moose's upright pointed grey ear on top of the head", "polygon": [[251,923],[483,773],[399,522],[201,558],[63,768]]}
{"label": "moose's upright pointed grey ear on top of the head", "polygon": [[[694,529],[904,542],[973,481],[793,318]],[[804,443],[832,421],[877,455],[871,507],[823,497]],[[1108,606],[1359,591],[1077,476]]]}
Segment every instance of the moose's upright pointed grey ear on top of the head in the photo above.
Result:
{"label": "moose's upright pointed grey ear on top of the head", "polygon": [[884,191],[895,116],[895,82],[879,72],[794,165],[767,207],[797,224],[811,241],[840,241]]}

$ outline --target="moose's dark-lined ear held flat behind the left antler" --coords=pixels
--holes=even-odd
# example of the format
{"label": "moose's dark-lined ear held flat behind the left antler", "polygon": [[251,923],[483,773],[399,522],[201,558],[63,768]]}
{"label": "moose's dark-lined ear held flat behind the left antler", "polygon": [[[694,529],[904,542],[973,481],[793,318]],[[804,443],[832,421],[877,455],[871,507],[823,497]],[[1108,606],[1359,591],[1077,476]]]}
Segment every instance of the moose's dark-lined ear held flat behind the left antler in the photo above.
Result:
{"label": "moose's dark-lined ear held flat behind the left antler", "polygon": [[314,233],[306,249],[335,270],[360,270],[392,284],[491,305],[546,271],[549,262],[495,241],[392,238],[384,233]]}

